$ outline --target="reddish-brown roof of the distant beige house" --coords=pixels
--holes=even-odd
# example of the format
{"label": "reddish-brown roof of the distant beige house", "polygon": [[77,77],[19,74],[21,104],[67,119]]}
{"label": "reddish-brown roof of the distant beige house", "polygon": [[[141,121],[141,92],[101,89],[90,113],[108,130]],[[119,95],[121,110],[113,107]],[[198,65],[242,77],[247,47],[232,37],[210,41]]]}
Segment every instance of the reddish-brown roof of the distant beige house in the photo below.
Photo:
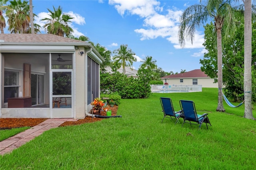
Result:
{"label": "reddish-brown roof of the distant beige house", "polygon": [[161,77],[161,79],[168,79],[168,78],[204,78],[209,77],[207,74],[205,74],[200,69],[195,69],[188,72],[183,72],[179,74],[171,74],[168,76]]}

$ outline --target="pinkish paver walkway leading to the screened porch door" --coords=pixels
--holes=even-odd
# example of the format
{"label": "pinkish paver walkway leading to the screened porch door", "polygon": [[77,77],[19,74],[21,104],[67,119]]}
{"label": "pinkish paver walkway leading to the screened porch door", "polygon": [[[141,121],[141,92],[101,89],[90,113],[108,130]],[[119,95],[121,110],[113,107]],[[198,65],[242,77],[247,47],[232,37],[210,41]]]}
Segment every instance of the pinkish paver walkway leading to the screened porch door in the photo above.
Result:
{"label": "pinkish paver walkway leading to the screened porch door", "polygon": [[10,153],[12,150],[24,145],[26,142],[41,135],[44,131],[60,126],[65,121],[77,121],[78,119],[72,118],[59,118],[59,119],[47,119],[46,121],[27,129],[24,132],[18,133],[13,137],[5,139],[0,142],[0,155]]}

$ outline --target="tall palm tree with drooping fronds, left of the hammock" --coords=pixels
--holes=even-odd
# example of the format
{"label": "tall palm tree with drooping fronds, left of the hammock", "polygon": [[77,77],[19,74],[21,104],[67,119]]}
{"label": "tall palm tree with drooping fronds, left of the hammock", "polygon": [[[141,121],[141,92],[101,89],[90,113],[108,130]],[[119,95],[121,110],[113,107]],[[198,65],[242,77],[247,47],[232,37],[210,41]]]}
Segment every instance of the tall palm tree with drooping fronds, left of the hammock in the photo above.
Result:
{"label": "tall palm tree with drooping fronds, left of the hammock", "polygon": [[[179,43],[185,46],[185,38],[193,43],[196,27],[214,20],[217,32],[217,62],[218,62],[218,107],[216,111],[225,111],[222,100],[222,31],[232,36],[235,31],[234,9],[231,0],[207,0],[206,5],[196,4],[188,7],[180,17]],[[224,27],[225,26],[225,27]],[[228,38],[228,37],[224,37]]]}

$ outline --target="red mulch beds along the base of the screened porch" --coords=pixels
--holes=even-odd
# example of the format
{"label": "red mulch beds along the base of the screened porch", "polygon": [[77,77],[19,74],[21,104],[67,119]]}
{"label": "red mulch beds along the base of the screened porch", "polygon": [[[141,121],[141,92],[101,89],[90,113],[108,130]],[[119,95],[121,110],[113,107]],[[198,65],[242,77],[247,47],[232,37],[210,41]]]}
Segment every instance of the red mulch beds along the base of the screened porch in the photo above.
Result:
{"label": "red mulch beds along the base of the screened porch", "polygon": [[[110,107],[107,106],[104,110],[112,111],[112,116],[115,116],[117,113],[118,106]],[[106,116],[106,111],[101,111],[100,115]],[[70,125],[80,125],[83,123],[92,123],[95,121],[101,121],[104,118],[94,117],[85,117],[84,119],[78,119],[78,121],[66,121],[62,123],[60,126],[70,126]],[[33,127],[47,120],[46,118],[0,118],[0,128],[15,128],[15,127]]]}

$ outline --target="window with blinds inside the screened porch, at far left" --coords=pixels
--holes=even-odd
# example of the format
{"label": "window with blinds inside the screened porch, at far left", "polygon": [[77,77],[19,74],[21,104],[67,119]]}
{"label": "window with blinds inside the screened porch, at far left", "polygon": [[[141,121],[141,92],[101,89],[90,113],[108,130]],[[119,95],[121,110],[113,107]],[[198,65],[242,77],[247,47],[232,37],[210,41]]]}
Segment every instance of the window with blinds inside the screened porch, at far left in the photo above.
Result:
{"label": "window with blinds inside the screened porch, at far left", "polygon": [[19,92],[19,72],[4,70],[4,103],[8,98],[18,97]]}

